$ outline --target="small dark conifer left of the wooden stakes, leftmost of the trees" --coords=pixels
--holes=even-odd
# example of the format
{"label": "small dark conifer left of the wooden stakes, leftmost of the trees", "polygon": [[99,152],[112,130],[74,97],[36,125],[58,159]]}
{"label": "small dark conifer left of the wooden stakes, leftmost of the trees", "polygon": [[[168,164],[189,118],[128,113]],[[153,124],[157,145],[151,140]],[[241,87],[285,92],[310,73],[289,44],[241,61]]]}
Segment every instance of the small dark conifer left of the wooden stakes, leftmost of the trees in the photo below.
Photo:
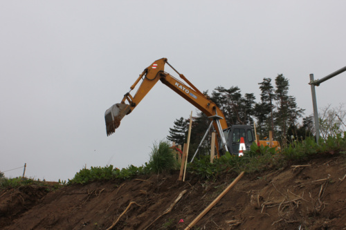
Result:
{"label": "small dark conifer left of the wooden stakes, leftmost of the trees", "polygon": [[188,127],[188,120],[184,119],[183,117],[176,119],[173,128],[170,128],[170,135],[167,136],[167,140],[183,146],[188,137]]}

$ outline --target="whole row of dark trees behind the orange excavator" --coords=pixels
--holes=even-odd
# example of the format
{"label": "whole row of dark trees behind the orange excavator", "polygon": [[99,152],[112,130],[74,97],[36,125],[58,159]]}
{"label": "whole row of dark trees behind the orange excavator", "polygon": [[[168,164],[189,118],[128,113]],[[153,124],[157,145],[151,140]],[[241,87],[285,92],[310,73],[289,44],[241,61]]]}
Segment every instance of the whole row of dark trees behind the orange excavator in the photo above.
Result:
{"label": "whole row of dark trees behind the orange excavator", "polygon": [[[274,82],[271,78],[264,78],[258,83],[261,93],[260,102],[256,102],[254,93],[242,94],[237,86],[224,88],[217,86],[212,93],[203,92],[212,102],[223,111],[228,126],[235,124],[256,124],[257,135],[266,139],[269,131],[273,132],[274,140],[289,142],[291,137],[305,139],[313,135],[313,117],[303,117],[304,109],[299,108],[295,97],[289,94],[289,79],[279,74]],[[302,117],[302,124],[299,118]],[[176,144],[186,143],[189,119],[180,117],[174,121],[170,128],[167,140]],[[199,112],[192,117],[192,133],[190,137],[190,150],[194,151],[206,133],[210,120]],[[210,135],[208,135],[210,137]],[[206,140],[201,151],[207,151],[210,140]]]}

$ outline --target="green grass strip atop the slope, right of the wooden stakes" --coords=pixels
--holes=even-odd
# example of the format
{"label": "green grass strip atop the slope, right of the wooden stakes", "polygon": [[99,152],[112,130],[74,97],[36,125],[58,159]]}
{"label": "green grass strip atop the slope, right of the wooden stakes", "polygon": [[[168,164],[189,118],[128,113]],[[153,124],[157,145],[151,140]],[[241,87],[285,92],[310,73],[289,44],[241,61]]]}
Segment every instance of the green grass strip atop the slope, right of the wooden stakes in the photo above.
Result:
{"label": "green grass strip atop the slope, right of the wooden stakes", "polygon": [[253,144],[249,151],[245,151],[244,157],[226,153],[210,163],[208,156],[202,156],[199,160],[188,164],[188,169],[190,173],[199,175],[202,179],[215,180],[219,175],[228,171],[255,173],[271,169],[283,169],[290,162],[308,160],[312,155],[337,152],[344,154],[345,150],[346,132],[335,137],[329,136],[327,140],[321,140],[319,144],[316,144],[312,137],[301,142],[294,141],[280,152],[275,151],[275,148],[259,147]]}

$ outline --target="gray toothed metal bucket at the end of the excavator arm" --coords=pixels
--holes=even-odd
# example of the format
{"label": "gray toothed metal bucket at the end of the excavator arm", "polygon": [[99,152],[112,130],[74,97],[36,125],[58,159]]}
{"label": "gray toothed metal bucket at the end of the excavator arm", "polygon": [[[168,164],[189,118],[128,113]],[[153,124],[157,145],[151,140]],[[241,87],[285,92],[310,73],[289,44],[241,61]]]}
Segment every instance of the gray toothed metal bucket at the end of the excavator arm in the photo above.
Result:
{"label": "gray toothed metal bucket at the end of the excavator arm", "polygon": [[107,136],[116,132],[116,128],[120,126],[120,121],[131,110],[128,104],[113,104],[111,108],[104,113],[106,121]]}

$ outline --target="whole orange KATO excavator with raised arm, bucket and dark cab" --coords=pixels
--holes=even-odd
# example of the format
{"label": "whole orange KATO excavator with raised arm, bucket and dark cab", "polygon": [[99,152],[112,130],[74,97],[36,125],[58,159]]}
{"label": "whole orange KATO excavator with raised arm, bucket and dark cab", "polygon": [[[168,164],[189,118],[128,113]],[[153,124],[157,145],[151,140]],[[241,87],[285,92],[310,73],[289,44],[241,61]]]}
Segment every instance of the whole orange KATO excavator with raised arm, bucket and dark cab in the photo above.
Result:
{"label": "whole orange KATO excavator with raised arm, bucket and dark cab", "polygon": [[[165,64],[170,66],[183,81],[166,73],[164,70]],[[130,94],[131,90],[134,90],[140,80],[142,80],[142,82],[134,96],[132,96]],[[173,68],[173,66],[168,63],[167,58],[158,59],[145,68],[143,73],[136,79],[136,82],[130,87],[129,92],[124,95],[122,101],[107,109],[104,113],[107,136],[115,133],[116,128],[120,126],[122,118],[125,117],[125,115],[129,115],[129,113],[138,106],[145,95],[149,93],[158,81],[161,81],[174,90],[175,93],[190,102],[210,119],[210,126],[214,126],[217,131],[217,139],[221,141],[220,144],[216,144],[218,156],[225,152],[237,155],[239,153],[239,140],[241,140],[241,137],[244,138],[246,149],[249,149],[252,142],[255,141],[251,126],[235,125],[228,127],[224,113],[222,113],[220,108],[212,102],[208,96],[201,93],[201,91],[188,81],[184,75]],[[127,102],[127,104],[125,102]]]}

